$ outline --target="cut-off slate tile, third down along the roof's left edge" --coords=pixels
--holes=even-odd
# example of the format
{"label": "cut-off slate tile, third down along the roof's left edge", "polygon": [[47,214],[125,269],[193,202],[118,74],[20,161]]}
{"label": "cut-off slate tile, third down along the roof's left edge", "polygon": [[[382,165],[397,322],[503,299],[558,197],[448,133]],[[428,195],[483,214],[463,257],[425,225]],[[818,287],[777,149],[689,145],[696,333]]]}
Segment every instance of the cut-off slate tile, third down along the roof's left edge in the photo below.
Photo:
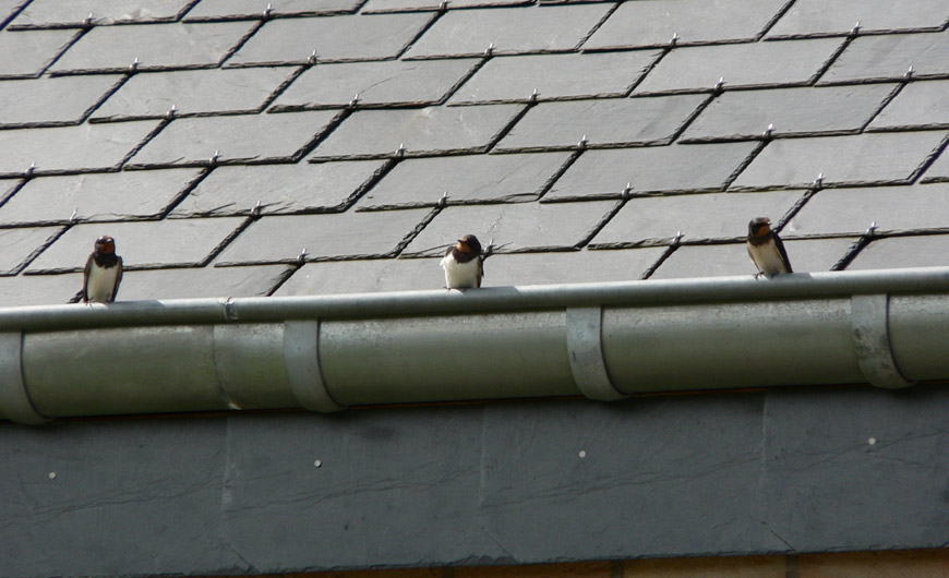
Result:
{"label": "cut-off slate tile, third down along the roof's left edge", "polygon": [[122,76],[40,77],[0,82],[0,125],[80,122]]}

